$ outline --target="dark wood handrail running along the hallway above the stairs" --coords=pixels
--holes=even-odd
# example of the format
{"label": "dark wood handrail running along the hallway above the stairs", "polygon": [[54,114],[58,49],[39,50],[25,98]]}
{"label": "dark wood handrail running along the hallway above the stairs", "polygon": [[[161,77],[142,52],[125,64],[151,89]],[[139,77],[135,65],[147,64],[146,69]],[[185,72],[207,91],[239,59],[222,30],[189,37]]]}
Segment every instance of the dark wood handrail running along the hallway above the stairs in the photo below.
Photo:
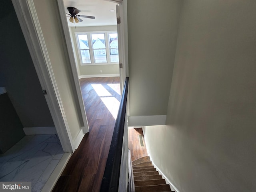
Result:
{"label": "dark wood handrail running along the hallway above the stairs", "polygon": [[100,192],[117,192],[119,185],[120,166],[122,158],[122,145],[124,137],[124,123],[126,115],[126,102],[128,94],[129,77],[126,77],[120,106],[116,118],[113,137],[110,144],[106,168],[102,178]]}

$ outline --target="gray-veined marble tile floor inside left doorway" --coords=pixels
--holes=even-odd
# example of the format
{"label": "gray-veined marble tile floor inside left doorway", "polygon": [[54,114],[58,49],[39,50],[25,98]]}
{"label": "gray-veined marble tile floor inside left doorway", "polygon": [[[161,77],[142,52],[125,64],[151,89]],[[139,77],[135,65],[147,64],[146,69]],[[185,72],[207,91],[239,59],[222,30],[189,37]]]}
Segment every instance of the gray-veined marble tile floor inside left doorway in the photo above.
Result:
{"label": "gray-veined marble tile floor inside left doorway", "polygon": [[0,181],[31,182],[40,192],[63,154],[57,135],[26,135],[0,154]]}

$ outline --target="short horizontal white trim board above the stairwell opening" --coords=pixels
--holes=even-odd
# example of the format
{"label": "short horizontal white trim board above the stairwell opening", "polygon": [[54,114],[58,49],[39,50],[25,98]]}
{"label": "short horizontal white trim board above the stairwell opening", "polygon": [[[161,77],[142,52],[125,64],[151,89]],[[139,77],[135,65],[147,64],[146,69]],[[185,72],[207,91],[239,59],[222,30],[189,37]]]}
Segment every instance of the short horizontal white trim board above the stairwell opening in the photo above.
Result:
{"label": "short horizontal white trim board above the stairwell opening", "polygon": [[165,124],[166,124],[166,115],[128,117],[129,126],[150,126],[150,125],[165,125]]}

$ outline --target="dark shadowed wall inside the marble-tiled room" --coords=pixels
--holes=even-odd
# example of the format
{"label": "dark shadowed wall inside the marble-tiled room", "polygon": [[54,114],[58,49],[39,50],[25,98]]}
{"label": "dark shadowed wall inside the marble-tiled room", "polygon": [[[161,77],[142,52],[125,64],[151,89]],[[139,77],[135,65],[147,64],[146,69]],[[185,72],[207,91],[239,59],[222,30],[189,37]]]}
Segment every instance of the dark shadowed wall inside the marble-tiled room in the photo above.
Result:
{"label": "dark shadowed wall inside the marble-tiled room", "polygon": [[0,3],[0,87],[24,127],[54,126],[11,0]]}

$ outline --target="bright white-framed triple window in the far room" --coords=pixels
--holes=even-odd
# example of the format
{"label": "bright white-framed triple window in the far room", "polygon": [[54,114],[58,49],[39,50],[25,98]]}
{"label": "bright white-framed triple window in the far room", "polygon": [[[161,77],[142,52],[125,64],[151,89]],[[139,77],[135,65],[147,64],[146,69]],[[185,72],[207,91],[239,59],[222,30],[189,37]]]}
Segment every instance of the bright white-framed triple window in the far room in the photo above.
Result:
{"label": "bright white-framed triple window in the far room", "polygon": [[81,65],[118,64],[117,32],[77,32]]}

